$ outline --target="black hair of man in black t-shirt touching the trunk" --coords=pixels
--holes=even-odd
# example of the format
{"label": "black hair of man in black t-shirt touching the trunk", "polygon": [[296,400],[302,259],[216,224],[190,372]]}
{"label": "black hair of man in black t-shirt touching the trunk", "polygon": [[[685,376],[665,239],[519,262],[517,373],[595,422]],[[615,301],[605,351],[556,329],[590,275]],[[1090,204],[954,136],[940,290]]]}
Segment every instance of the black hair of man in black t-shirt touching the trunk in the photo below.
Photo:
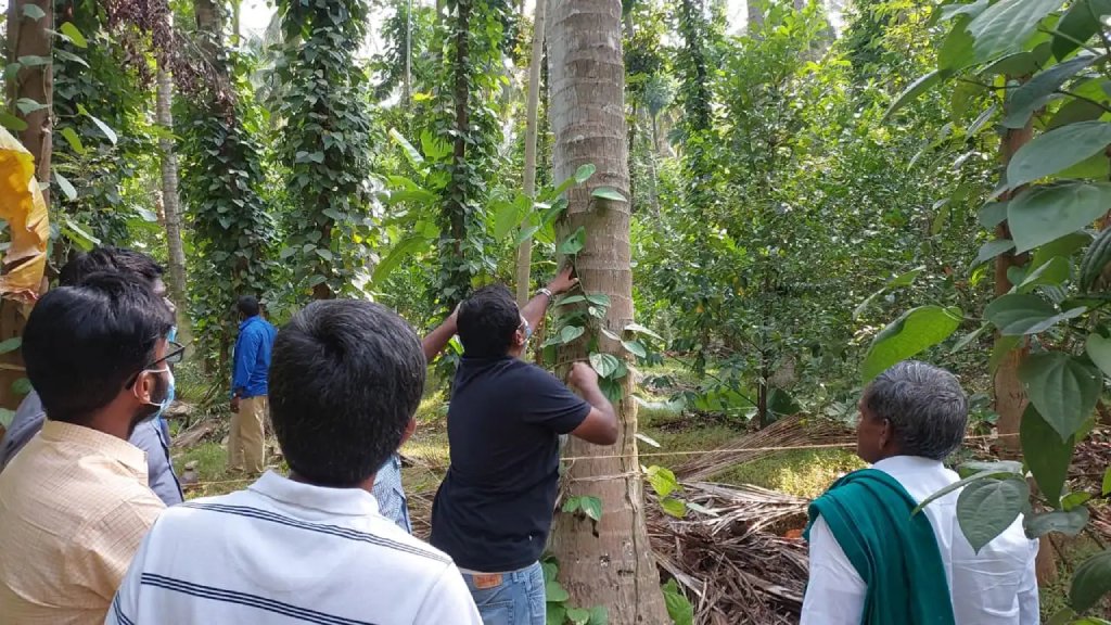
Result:
{"label": "black hair of man in black t-shirt touching the trunk", "polygon": [[521,311],[504,285],[489,285],[474,291],[459,307],[457,318],[463,355],[470,358],[501,358],[521,327]]}

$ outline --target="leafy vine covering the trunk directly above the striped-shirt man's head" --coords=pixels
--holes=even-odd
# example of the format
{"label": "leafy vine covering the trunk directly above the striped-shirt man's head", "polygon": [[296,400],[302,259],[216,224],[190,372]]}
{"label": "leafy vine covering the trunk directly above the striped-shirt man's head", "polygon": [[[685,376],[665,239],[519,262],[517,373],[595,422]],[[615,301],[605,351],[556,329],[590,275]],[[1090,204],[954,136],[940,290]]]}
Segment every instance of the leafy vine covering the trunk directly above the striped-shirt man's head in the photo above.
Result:
{"label": "leafy vine covering the trunk directly above the striped-shirt man's head", "polygon": [[356,63],[367,36],[369,2],[278,3],[283,89],[281,158],[289,169],[288,238],[282,259],[317,299],[349,292],[366,271],[376,231],[368,177],[369,81]]}

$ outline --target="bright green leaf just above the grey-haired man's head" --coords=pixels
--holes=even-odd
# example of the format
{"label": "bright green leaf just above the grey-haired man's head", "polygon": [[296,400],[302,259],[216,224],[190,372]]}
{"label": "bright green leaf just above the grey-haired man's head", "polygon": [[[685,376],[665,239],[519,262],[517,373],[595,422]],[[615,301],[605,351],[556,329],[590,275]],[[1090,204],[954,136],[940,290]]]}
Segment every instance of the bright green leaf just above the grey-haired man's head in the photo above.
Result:
{"label": "bright green leaf just above the grey-haired man's head", "polygon": [[960,325],[959,308],[921,306],[903,312],[872,339],[861,366],[864,383],[895,363],[945,340]]}

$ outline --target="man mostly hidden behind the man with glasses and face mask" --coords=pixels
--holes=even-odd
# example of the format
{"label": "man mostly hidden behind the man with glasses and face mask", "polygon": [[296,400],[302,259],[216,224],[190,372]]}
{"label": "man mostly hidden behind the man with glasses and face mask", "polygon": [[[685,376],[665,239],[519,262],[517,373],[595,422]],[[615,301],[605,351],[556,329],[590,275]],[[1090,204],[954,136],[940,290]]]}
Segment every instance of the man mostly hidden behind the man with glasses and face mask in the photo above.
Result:
{"label": "man mostly hidden behind the man with glasses and face mask", "polygon": [[[88,254],[82,254],[62,267],[58,276],[59,286],[73,287],[80,285],[91,274],[114,271],[128,280],[143,282],[150,286],[154,295],[162,298],[171,311],[176,311],[173,302],[166,297],[166,282],[162,281],[163,269],[154,259],[134,250],[110,246],[98,247]],[[171,330],[171,335],[172,335]],[[172,341],[173,336],[167,337]],[[170,387],[170,401],[173,400],[173,387]],[[42,407],[39,394],[33,389],[23,398],[16,410],[11,427],[0,442],[0,472],[8,466],[16,454],[31,442],[42,429],[47,413]],[[173,473],[170,460],[170,428],[159,414],[150,420],[136,426],[129,443],[147,453],[147,482],[150,489],[158,495],[167,506],[180,504],[182,500],[181,485]]]}

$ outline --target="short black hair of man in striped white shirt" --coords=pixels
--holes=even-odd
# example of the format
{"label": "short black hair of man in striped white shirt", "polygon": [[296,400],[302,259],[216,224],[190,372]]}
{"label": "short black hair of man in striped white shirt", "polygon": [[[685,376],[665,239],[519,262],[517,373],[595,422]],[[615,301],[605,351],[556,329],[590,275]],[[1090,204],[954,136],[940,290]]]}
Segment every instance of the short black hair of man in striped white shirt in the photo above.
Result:
{"label": "short black hair of man in striped white shirt", "polygon": [[424,390],[420,340],[370,301],[314,301],[278,333],[270,418],[286,462],[320,486],[358,486],[401,445]]}

